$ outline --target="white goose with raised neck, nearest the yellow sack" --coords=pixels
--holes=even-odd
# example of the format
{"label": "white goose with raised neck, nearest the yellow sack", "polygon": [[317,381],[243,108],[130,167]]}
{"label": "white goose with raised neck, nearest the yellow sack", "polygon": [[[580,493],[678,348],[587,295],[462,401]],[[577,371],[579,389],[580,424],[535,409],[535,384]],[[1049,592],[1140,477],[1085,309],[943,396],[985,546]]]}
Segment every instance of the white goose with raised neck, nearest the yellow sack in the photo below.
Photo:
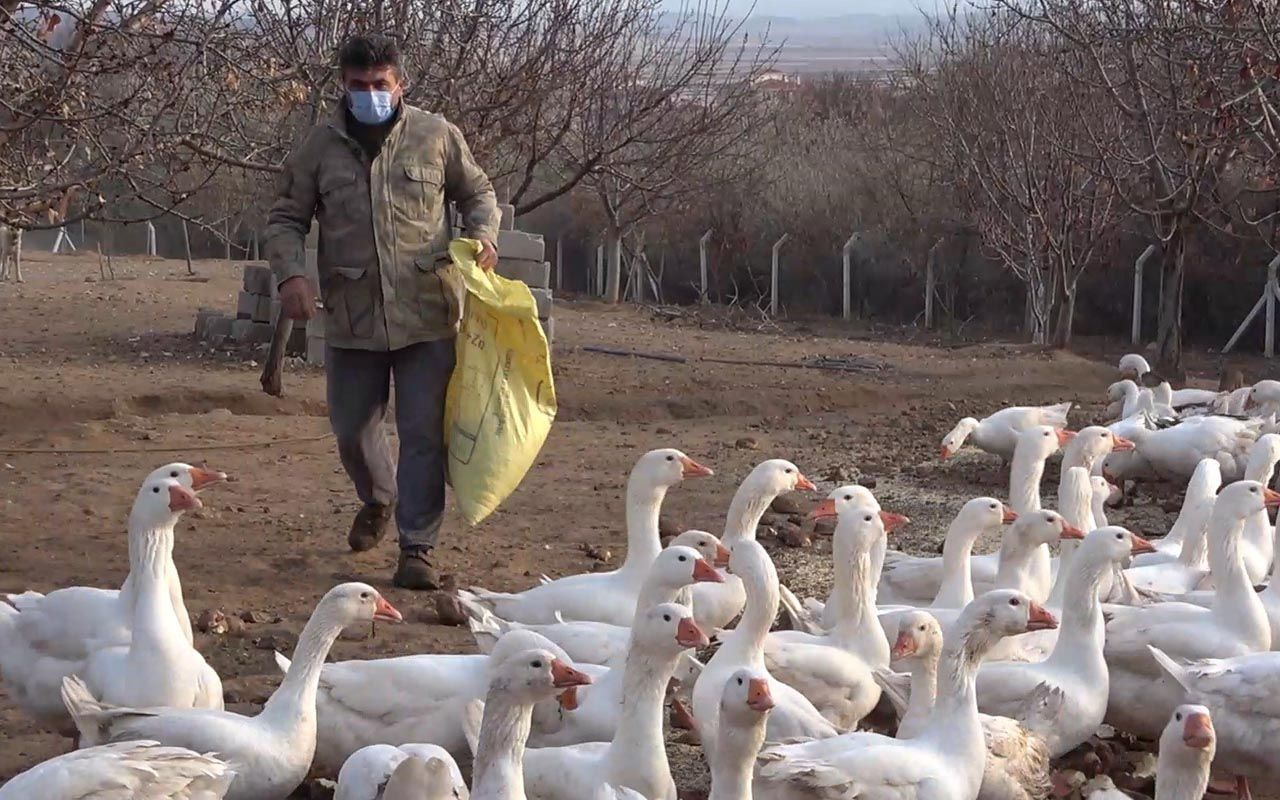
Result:
{"label": "white goose with raised neck, nearest the yellow sack", "polygon": [[680,451],[645,453],[627,481],[627,556],[620,568],[570,575],[516,594],[486,589],[458,594],[509,622],[547,625],[563,617],[628,625],[640,586],[662,550],[658,513],[667,490],[686,477],[712,474]]}

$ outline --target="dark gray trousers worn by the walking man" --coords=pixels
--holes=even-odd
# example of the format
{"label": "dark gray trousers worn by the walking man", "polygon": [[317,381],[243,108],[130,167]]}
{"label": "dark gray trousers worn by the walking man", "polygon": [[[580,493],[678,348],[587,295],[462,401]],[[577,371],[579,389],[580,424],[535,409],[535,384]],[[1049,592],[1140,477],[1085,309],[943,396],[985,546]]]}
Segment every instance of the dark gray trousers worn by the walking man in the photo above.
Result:
{"label": "dark gray trousers worn by the walking man", "polygon": [[[338,347],[325,353],[329,422],[338,456],[366,504],[396,506],[402,549],[435,547],[444,516],[444,393],[453,374],[453,339],[393,351]],[[396,385],[399,470],[383,420]]]}

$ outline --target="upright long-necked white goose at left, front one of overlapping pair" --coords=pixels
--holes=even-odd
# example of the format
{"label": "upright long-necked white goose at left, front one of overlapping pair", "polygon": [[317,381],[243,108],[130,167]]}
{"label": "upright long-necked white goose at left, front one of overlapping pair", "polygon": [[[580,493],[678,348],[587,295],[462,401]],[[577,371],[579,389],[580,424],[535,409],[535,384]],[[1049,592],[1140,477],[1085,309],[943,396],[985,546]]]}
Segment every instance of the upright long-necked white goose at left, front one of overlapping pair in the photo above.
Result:
{"label": "upright long-necked white goose at left, front one of overlapping pair", "polygon": [[134,513],[147,535],[131,553],[136,581],[129,644],[90,655],[81,678],[95,698],[133,708],[223,708],[223,682],[182,636],[166,582],[178,518],[201,507],[200,498],[170,477],[142,485]]}

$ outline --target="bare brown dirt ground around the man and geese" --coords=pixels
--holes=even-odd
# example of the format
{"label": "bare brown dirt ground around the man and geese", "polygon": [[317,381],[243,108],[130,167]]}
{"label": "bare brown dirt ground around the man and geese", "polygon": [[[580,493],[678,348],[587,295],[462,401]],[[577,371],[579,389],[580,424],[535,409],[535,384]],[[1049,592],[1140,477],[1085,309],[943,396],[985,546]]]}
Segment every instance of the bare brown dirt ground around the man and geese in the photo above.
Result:
{"label": "bare brown dirt ground around the man and geese", "polygon": [[[374,639],[344,637],[333,658],[470,649],[465,628],[435,623],[431,598],[390,586],[394,545],[347,550],[356,503],[332,440],[316,439],[328,433],[323,374],[293,364],[285,397],[270,398],[252,353],[193,339],[197,307],[233,310],[239,288],[238,268],[210,261],[196,270],[200,280],[188,280],[182,262],[118,260],[118,279],[104,282],[96,259],[29,253],[27,283],[0,284],[0,590],[119,585],[138,481],[182,460],[233,477],[205,493],[206,508],[188,515],[177,545],[193,614],[255,612],[242,632],[198,635],[230,699],[253,704],[270,692],[271,649],[292,649],[315,600],[344,580],[375,585],[407,623],[380,626]],[[664,516],[682,527],[718,532],[737,481],[755,462],[785,457],[822,490],[874,481],[886,508],[913,518],[896,545],[933,552],[960,503],[1006,492],[995,460],[938,463],[938,440],[955,420],[1006,403],[1073,399],[1082,404],[1073,422],[1091,421],[1123,352],[1094,346],[1089,360],[1015,344],[951,347],[918,332],[913,342],[829,321],[762,330],[741,317],[699,324],[591,302],[559,302],[556,319],[559,417],[498,513],[475,529],[445,524],[439,558],[462,585],[520,589],[539,572],[589,570],[596,562],[586,545],[620,561],[623,483],[654,447],[678,447],[716,470],[668,495]],[[590,344],[690,362],[582,349]],[[696,361],[703,356],[859,356],[883,369]],[[1216,374],[1199,378],[1216,385]],[[1148,503],[1119,518],[1151,532],[1169,516]],[[829,541],[768,544],[797,594],[826,593]],[[0,778],[68,749],[14,710],[3,689],[0,742]],[[690,753],[675,759],[682,788],[704,781]]]}

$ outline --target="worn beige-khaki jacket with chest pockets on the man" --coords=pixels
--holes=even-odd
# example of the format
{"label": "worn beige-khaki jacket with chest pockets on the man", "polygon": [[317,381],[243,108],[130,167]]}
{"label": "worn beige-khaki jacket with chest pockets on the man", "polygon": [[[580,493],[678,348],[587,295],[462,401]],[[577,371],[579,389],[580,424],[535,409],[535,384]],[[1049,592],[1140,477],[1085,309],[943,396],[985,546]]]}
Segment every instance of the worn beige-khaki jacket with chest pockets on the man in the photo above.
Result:
{"label": "worn beige-khaki jacket with chest pockets on the man", "polygon": [[402,104],[372,164],[339,105],[289,154],[268,216],[276,282],[306,275],[306,237],[320,223],[317,266],[330,346],[399,349],[452,337],[461,287],[448,261],[448,204],[463,236],[497,242],[498,204],[462,133]]}

